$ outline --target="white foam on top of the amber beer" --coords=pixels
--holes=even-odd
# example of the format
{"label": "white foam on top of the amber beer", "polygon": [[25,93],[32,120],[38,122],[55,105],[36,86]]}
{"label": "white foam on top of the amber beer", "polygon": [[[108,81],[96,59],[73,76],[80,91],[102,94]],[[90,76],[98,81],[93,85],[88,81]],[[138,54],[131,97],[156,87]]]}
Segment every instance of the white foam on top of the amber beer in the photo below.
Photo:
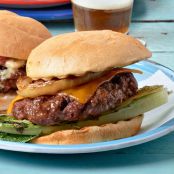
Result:
{"label": "white foam on top of the amber beer", "polygon": [[114,10],[128,8],[133,0],[71,0],[74,4],[98,10]]}

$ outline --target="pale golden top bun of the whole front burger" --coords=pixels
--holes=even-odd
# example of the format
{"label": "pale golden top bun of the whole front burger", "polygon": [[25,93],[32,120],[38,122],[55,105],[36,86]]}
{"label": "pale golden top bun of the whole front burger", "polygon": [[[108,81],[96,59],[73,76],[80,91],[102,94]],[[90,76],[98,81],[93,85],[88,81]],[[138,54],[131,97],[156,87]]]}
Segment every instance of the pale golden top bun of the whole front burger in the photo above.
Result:
{"label": "pale golden top bun of the whole front burger", "polygon": [[149,57],[151,52],[131,36],[110,30],[74,32],[36,47],[27,61],[27,76],[35,80],[82,76]]}

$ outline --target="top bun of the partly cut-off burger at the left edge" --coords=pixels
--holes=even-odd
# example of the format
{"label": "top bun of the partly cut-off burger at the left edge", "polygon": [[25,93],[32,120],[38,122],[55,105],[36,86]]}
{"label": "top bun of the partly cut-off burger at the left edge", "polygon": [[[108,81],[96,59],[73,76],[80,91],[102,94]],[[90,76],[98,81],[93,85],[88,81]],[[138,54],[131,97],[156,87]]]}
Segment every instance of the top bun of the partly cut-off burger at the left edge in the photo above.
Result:
{"label": "top bun of the partly cut-off burger at the left edge", "polygon": [[40,22],[6,10],[0,11],[0,56],[27,59],[33,48],[51,37]]}

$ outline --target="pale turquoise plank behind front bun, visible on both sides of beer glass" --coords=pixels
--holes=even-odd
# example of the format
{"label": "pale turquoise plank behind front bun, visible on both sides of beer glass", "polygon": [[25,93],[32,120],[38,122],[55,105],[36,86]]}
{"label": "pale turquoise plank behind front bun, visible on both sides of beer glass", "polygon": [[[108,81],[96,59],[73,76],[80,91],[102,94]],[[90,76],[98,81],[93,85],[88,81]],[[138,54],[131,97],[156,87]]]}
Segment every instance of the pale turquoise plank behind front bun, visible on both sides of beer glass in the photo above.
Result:
{"label": "pale turquoise plank behind front bun, visible on both sides of beer glass", "polygon": [[[45,23],[53,35],[74,31],[73,23]],[[174,52],[174,23],[132,23],[130,34],[153,52]]]}

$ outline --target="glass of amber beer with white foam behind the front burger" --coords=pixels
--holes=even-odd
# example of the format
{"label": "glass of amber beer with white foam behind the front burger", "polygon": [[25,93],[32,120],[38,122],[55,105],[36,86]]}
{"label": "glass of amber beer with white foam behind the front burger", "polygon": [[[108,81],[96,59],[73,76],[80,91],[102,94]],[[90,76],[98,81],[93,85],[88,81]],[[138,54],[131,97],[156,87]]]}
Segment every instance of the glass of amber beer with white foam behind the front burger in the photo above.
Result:
{"label": "glass of amber beer with white foam behind the front burger", "polygon": [[76,31],[128,33],[133,0],[71,0]]}

